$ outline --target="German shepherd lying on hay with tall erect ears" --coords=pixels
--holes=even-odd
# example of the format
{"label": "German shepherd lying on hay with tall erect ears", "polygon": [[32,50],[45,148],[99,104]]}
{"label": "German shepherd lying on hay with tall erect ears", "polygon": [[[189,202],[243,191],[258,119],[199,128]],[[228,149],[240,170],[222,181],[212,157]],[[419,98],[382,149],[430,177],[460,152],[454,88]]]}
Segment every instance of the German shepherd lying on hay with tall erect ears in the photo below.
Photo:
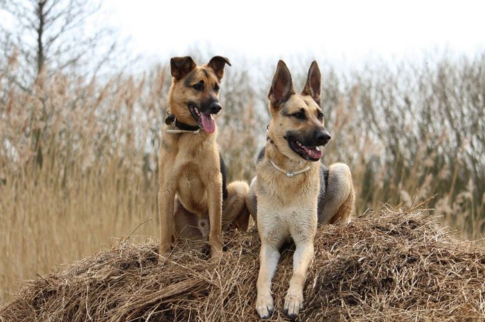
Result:
{"label": "German shepherd lying on hay with tall erect ears", "polygon": [[321,75],[313,61],[303,91],[294,92],[290,70],[278,62],[268,98],[272,120],[258,156],[247,207],[261,238],[256,311],[266,319],[274,310],[271,281],[283,243],[294,241],[293,276],[283,311],[295,318],[303,303],[303,285],[312,261],[318,224],[349,222],[355,203],[346,164],[325,167],[321,149],[330,140],[320,108]]}

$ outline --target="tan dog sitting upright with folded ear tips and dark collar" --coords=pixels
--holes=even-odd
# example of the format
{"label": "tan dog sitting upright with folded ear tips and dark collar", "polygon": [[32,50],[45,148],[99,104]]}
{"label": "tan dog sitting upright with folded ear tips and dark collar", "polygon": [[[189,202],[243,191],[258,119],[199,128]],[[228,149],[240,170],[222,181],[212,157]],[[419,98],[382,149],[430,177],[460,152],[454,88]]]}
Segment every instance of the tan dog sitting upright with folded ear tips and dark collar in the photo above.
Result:
{"label": "tan dog sitting upright with folded ear tips and dark collar", "polygon": [[222,251],[222,230],[246,230],[246,182],[226,185],[226,168],[215,142],[213,115],[220,113],[219,86],[229,59],[215,56],[197,66],[191,57],[170,59],[173,76],[159,154],[160,261],[175,238],[205,239],[211,256]]}

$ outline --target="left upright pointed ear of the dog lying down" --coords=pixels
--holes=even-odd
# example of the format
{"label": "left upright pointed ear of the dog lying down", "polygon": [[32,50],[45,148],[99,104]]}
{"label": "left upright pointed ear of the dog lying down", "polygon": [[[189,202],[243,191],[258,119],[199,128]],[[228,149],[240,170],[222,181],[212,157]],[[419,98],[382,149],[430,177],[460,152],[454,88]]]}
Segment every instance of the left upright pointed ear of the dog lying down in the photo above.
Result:
{"label": "left upright pointed ear of the dog lying down", "polygon": [[290,70],[285,62],[278,61],[276,66],[276,73],[273,76],[270,92],[267,93],[267,98],[270,99],[271,105],[278,108],[281,103],[284,103],[294,94],[293,82],[291,79]]}

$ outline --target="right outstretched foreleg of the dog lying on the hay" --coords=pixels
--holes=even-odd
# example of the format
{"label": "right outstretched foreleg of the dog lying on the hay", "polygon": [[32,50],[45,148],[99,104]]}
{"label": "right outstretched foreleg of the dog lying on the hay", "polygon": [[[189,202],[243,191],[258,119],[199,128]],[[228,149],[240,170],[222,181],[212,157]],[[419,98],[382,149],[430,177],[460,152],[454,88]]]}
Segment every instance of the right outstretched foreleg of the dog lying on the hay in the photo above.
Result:
{"label": "right outstretched foreleg of the dog lying on the hay", "polygon": [[308,267],[313,259],[313,238],[311,240],[295,240],[297,249],[293,254],[293,276],[290,280],[290,287],[285,296],[283,312],[294,319],[303,304],[303,286],[305,285]]}

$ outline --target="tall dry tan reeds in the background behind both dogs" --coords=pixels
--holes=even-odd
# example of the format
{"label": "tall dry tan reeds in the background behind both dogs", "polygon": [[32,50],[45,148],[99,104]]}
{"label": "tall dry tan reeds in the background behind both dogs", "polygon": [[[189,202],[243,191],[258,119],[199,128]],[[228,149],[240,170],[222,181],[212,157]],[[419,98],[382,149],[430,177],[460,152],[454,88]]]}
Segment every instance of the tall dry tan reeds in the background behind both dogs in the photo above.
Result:
{"label": "tall dry tan reeds in the background behind both dogs", "polygon": [[[158,235],[157,151],[170,84],[167,67],[155,66],[107,80],[41,75],[22,89],[15,60],[0,70],[0,299],[16,281],[91,254],[109,238]],[[349,163],[358,211],[436,193],[432,206],[443,222],[481,236],[485,55],[350,73],[319,62],[333,136],[324,162]],[[273,68],[261,80],[234,66],[222,81],[218,142],[231,180],[254,176]],[[290,68],[296,83],[306,68]]]}

